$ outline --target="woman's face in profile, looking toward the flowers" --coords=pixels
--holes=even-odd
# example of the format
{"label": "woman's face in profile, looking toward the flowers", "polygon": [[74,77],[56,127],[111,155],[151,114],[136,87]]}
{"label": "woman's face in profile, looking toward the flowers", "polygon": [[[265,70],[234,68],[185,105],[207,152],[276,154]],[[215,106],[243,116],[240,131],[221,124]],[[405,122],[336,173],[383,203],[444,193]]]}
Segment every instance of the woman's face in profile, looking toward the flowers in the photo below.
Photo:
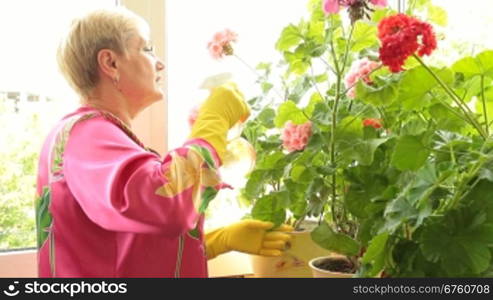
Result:
{"label": "woman's face in profile, looking toward the flowers", "polygon": [[120,57],[119,88],[135,111],[163,99],[164,64],[154,55],[149,40],[139,32],[128,41],[127,55]]}

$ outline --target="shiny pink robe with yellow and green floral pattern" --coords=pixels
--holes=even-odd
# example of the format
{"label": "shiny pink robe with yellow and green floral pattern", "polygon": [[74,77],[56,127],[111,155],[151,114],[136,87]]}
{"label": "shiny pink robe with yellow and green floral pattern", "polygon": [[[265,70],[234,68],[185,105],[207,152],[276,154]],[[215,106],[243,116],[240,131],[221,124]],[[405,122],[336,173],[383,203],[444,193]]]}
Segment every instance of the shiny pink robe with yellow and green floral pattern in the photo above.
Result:
{"label": "shiny pink robe with yellow and green floral pattern", "polygon": [[207,277],[203,212],[219,164],[204,140],[162,160],[109,113],[67,115],[39,161],[39,276]]}

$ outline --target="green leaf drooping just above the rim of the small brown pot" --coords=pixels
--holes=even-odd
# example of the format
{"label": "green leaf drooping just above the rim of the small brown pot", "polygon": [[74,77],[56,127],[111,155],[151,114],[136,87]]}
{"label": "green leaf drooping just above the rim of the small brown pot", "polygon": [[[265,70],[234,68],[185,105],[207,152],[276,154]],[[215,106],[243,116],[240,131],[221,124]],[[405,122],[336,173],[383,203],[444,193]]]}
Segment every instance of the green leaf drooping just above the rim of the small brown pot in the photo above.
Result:
{"label": "green leaf drooping just above the rim of the small brown pot", "polygon": [[312,231],[311,238],[322,248],[342,255],[358,255],[360,250],[357,241],[345,234],[334,232],[325,222]]}

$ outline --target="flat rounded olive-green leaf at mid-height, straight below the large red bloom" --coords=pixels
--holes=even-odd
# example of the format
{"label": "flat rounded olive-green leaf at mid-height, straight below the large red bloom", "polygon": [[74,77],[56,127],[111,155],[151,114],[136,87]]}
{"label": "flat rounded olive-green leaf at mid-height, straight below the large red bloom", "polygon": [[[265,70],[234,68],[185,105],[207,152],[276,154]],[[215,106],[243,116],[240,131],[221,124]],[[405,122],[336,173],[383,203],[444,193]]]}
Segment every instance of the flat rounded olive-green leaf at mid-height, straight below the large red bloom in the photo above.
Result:
{"label": "flat rounded olive-green leaf at mid-height, straight below the large red bloom", "polygon": [[417,171],[424,165],[430,150],[415,136],[403,136],[392,154],[392,165],[401,171]]}

